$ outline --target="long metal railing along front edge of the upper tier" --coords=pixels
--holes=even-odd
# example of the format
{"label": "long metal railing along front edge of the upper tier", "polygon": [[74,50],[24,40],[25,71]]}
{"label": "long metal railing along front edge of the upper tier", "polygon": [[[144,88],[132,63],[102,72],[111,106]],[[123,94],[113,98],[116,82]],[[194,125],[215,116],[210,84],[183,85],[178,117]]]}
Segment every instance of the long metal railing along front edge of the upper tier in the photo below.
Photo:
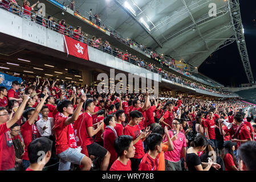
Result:
{"label": "long metal railing along front edge of the upper tier", "polygon": [[[18,14],[22,18],[25,18],[27,20],[31,20],[35,23],[40,24],[41,26],[44,26],[44,27],[49,28],[53,31],[59,32],[59,34],[69,36],[72,39],[76,39],[80,42],[86,43],[88,46],[91,46],[91,47],[94,47],[96,49],[99,49],[100,51],[109,53],[109,54],[111,54],[115,57],[119,57],[120,59],[122,59],[124,61],[127,61],[131,64],[135,64],[135,65],[137,65],[141,68],[145,68],[148,71],[151,71],[153,73],[159,73],[162,76],[162,78],[165,78],[167,80],[177,82],[178,84],[189,86],[190,88],[194,88],[194,89],[197,88],[197,89],[206,90],[206,91],[213,92],[213,93],[219,93],[219,92],[217,92],[217,90],[206,89],[206,88],[203,88],[201,86],[196,85],[196,83],[187,82],[187,81],[182,80],[178,77],[170,76],[170,75],[168,75],[170,73],[164,73],[162,71],[159,71],[159,69],[153,68],[152,66],[148,67],[147,64],[142,63],[137,57],[134,59],[132,57],[129,57],[127,55],[124,55],[124,54],[120,53],[120,51],[118,50],[117,47],[112,48],[111,46],[109,46],[106,43],[101,43],[99,40],[88,39],[85,36],[80,35],[79,33],[72,31],[71,28],[66,28],[66,27],[64,27],[64,25],[60,25],[60,24],[57,24],[55,22],[51,22],[50,20],[45,19],[45,18],[40,17],[40,16],[37,17],[38,15],[36,15],[35,13],[32,13],[29,10],[24,10],[23,7],[20,7],[18,5],[15,5],[13,7],[13,6],[7,5],[3,2],[0,2],[0,7],[2,7],[3,9],[6,9],[6,10],[12,12],[12,13]],[[24,11],[25,11],[25,13],[24,13]]]}

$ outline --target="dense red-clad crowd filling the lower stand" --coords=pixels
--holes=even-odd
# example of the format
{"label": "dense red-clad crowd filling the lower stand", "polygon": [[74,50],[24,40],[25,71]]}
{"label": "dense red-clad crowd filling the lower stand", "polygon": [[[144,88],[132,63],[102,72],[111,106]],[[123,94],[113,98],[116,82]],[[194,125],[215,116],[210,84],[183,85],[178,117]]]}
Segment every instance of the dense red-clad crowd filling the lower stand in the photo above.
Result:
{"label": "dense red-clad crowd filling the lower stand", "polygon": [[13,81],[0,87],[0,169],[46,170],[48,162],[61,171],[255,170],[248,106]]}

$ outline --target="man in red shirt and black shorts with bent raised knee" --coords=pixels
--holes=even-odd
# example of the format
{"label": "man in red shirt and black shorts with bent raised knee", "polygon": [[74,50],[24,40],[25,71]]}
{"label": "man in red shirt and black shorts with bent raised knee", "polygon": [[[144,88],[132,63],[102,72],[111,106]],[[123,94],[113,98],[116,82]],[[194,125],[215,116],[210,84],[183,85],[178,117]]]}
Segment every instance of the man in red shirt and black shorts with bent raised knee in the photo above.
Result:
{"label": "man in red shirt and black shorts with bent raised knee", "polygon": [[98,122],[97,129],[94,130],[91,116],[95,109],[94,102],[91,99],[86,100],[83,108],[85,108],[85,112],[81,114],[74,123],[76,140],[78,145],[82,147],[81,152],[83,154],[103,158],[100,170],[107,171],[110,153],[104,147],[94,142],[94,139],[92,139],[92,137],[102,129],[104,122]]}

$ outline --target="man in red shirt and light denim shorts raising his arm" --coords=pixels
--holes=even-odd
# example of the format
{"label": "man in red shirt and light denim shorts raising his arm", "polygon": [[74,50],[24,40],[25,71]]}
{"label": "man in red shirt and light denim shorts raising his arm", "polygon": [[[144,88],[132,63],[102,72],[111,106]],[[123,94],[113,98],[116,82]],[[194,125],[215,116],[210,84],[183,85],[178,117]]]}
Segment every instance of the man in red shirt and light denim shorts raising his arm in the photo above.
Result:
{"label": "man in red shirt and light denim shorts raising his arm", "polygon": [[[80,148],[76,145],[72,125],[78,119],[84,101],[86,101],[86,96],[82,95],[75,111],[70,100],[62,100],[57,105],[56,109],[58,109],[59,113],[54,115],[54,130],[56,155],[60,158],[59,171],[68,171],[71,163],[82,165],[82,171],[89,171],[91,169],[91,159],[82,154],[79,151]],[[68,117],[70,114],[72,116]]]}

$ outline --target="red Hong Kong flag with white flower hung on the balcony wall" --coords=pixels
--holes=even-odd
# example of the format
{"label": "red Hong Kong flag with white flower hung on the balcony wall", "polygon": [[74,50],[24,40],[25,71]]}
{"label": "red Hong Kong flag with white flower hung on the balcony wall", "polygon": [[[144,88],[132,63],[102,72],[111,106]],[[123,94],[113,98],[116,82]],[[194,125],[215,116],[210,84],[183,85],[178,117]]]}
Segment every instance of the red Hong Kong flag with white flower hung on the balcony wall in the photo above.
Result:
{"label": "red Hong Kong flag with white flower hung on the balcony wall", "polygon": [[87,44],[64,35],[67,54],[89,60]]}

